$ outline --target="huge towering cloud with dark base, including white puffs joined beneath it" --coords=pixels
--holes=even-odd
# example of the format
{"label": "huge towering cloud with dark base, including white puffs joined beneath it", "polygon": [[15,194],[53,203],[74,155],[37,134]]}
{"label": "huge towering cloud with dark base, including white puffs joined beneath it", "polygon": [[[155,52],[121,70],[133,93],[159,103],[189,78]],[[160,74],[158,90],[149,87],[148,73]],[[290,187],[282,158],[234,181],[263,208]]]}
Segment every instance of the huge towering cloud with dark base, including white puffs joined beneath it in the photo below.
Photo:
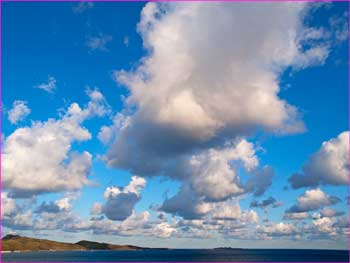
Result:
{"label": "huge towering cloud with dark base, including white puffs joined beneath it", "polygon": [[[278,79],[286,68],[322,64],[328,55],[310,34],[312,43],[303,45],[307,11],[303,3],[148,3],[138,24],[147,56],[135,70],[114,74],[129,96],[123,121],[99,133],[110,145],[107,164],[180,181],[162,208],[188,218],[205,214],[203,202],[262,195],[274,171],[257,167],[242,138],[305,130],[298,109],[279,97]],[[250,174],[246,185],[237,163]],[[180,195],[196,202],[175,211]]]}

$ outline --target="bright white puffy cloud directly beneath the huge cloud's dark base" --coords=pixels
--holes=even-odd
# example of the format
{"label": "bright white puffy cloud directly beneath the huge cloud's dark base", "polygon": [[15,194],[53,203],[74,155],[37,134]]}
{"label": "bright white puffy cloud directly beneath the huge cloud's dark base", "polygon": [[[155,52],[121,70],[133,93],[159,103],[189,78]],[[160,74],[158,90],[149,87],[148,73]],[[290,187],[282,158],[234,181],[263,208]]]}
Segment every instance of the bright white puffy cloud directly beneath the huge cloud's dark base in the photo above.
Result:
{"label": "bright white puffy cloud directly beneath the huge cloud's dark base", "polygon": [[209,149],[193,155],[182,164],[193,190],[206,201],[220,201],[244,192],[233,162],[242,162],[247,171],[258,165],[252,143],[240,140],[222,149]]}

